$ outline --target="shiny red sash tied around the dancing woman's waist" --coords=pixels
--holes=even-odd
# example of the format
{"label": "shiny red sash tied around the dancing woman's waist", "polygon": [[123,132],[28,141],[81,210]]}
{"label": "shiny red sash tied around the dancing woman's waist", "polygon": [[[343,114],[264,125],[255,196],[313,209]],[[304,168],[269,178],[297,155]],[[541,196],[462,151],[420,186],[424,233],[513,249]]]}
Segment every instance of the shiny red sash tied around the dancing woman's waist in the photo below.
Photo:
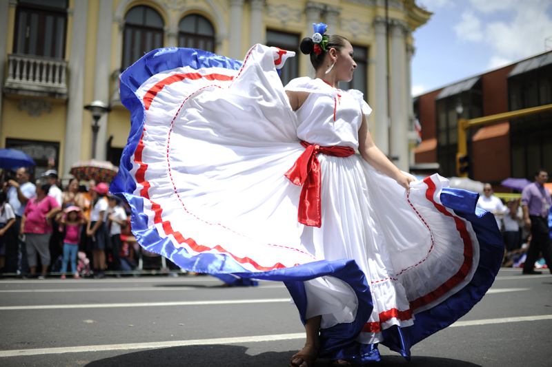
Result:
{"label": "shiny red sash tied around the dancing woman's waist", "polygon": [[306,149],[297,158],[284,176],[294,185],[301,186],[301,197],[299,198],[299,210],[297,221],[311,227],[322,226],[322,207],[320,205],[320,162],[316,155],[319,153],[334,157],[348,157],[355,154],[355,149],[349,147],[321,147],[302,141]]}

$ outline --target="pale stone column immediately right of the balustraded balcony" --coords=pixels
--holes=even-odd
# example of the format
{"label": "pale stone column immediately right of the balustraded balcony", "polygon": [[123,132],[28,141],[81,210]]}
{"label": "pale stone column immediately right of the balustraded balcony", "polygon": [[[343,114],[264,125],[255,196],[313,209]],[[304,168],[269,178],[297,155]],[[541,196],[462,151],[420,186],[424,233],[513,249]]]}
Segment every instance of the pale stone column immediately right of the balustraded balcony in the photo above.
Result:
{"label": "pale stone column immediately right of the balustraded balcony", "polygon": [[[70,98],[68,98],[67,103],[63,176],[69,174],[73,162],[81,159],[82,118],[85,113],[83,98],[84,73],[86,72],[84,62],[86,61],[88,0],[75,1],[72,17],[72,29],[67,30],[71,32],[71,52],[68,66],[68,92]],[[109,25],[108,28],[111,29],[111,26]],[[109,77],[109,72],[106,77]]]}

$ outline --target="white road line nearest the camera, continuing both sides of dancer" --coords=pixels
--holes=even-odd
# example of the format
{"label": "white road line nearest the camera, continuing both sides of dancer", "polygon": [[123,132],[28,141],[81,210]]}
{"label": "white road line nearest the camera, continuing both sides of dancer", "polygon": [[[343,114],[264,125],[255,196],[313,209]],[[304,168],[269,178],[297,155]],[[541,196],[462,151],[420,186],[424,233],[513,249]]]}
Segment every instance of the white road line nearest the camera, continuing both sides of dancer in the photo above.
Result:
{"label": "white road line nearest the camera, continuing both sides of dancer", "polygon": [[[501,319],[458,321],[452,324],[450,327],[453,328],[453,327],[460,327],[460,326],[504,324],[509,322],[540,321],[545,319],[552,319],[552,315],[504,317]],[[296,334],[280,334],[280,335],[261,335],[257,337],[226,337],[226,338],[219,338],[219,339],[178,340],[175,342],[106,344],[106,345],[100,345],[100,346],[70,346],[70,347],[62,347],[62,348],[0,350],[0,358],[1,357],[19,357],[19,356],[28,356],[28,355],[60,354],[60,353],[103,352],[106,350],[132,350],[132,349],[172,348],[175,346],[199,346],[199,345],[236,344],[236,343],[254,343],[254,342],[274,342],[277,340],[303,339],[304,337],[305,337],[304,333],[296,333]]]}

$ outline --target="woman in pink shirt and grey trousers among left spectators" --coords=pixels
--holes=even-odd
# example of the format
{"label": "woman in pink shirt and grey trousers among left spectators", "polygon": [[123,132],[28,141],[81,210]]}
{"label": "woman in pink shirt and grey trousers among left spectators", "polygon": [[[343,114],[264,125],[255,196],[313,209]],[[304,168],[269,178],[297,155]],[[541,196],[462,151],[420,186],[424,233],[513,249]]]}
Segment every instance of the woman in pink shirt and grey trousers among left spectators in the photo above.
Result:
{"label": "woman in pink shirt and grey trousers among left spectators", "polygon": [[45,279],[50,265],[50,235],[52,235],[52,218],[61,208],[55,198],[48,196],[50,184],[37,185],[37,196],[27,202],[27,207],[21,217],[19,234],[26,236],[27,258],[30,273],[37,272],[37,252],[42,262],[42,274],[39,279]]}

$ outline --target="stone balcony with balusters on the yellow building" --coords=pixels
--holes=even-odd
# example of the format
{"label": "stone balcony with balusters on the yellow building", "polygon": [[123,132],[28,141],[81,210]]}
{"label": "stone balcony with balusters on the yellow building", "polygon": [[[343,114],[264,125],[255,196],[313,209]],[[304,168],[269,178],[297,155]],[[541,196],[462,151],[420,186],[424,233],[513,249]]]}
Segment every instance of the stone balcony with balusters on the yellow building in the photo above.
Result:
{"label": "stone balcony with balusters on the yellow building", "polygon": [[61,59],[26,54],[8,54],[6,94],[67,99],[67,65]]}

